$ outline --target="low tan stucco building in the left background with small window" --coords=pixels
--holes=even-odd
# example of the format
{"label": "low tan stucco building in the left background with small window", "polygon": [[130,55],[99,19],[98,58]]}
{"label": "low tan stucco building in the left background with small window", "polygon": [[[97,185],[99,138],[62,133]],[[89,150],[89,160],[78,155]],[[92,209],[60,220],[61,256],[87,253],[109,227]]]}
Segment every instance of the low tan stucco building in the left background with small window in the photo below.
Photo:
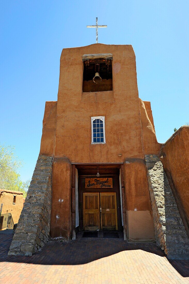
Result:
{"label": "low tan stucco building in the left background with small window", "polygon": [[[14,224],[18,223],[23,208],[23,193],[0,189],[0,205],[3,203],[1,214],[11,213]],[[16,195],[16,202],[13,204],[13,196]]]}

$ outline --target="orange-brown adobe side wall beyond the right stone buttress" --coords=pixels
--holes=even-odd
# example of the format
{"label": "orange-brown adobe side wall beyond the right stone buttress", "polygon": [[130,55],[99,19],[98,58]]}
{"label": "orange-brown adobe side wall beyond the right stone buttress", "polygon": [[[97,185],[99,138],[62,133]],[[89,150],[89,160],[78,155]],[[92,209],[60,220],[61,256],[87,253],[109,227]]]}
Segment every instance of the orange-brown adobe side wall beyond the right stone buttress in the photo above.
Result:
{"label": "orange-brown adobe side wall beyond the right stone buttress", "polygon": [[168,178],[173,181],[189,225],[189,126],[179,128],[163,144],[160,157]]}

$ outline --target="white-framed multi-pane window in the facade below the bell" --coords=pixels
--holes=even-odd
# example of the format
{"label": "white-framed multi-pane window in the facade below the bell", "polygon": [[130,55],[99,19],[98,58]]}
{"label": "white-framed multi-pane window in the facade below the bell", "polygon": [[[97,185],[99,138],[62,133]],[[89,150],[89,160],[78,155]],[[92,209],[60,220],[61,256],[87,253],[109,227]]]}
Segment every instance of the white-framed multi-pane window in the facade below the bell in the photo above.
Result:
{"label": "white-framed multi-pane window in the facade below the bell", "polygon": [[105,117],[94,116],[91,118],[92,144],[104,144],[105,140]]}

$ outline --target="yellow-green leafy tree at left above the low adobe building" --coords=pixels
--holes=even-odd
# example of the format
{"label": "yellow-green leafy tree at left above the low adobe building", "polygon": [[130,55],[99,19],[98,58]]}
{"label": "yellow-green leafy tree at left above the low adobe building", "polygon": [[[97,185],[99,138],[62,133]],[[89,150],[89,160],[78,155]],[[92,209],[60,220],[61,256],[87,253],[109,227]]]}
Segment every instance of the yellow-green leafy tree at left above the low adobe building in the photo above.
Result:
{"label": "yellow-green leafy tree at left above the low adobe building", "polygon": [[28,188],[18,173],[21,166],[22,161],[16,157],[14,147],[0,145],[0,188],[22,191],[26,197]]}

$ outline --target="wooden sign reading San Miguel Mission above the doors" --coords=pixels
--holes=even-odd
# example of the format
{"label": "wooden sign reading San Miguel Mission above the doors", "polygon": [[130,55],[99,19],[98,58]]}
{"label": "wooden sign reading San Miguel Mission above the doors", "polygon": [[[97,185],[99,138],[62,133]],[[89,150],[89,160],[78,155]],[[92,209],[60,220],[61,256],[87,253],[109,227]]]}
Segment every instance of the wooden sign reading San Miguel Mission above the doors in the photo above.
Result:
{"label": "wooden sign reading San Miguel Mission above the doors", "polygon": [[113,188],[112,178],[86,178],[85,188]]}

